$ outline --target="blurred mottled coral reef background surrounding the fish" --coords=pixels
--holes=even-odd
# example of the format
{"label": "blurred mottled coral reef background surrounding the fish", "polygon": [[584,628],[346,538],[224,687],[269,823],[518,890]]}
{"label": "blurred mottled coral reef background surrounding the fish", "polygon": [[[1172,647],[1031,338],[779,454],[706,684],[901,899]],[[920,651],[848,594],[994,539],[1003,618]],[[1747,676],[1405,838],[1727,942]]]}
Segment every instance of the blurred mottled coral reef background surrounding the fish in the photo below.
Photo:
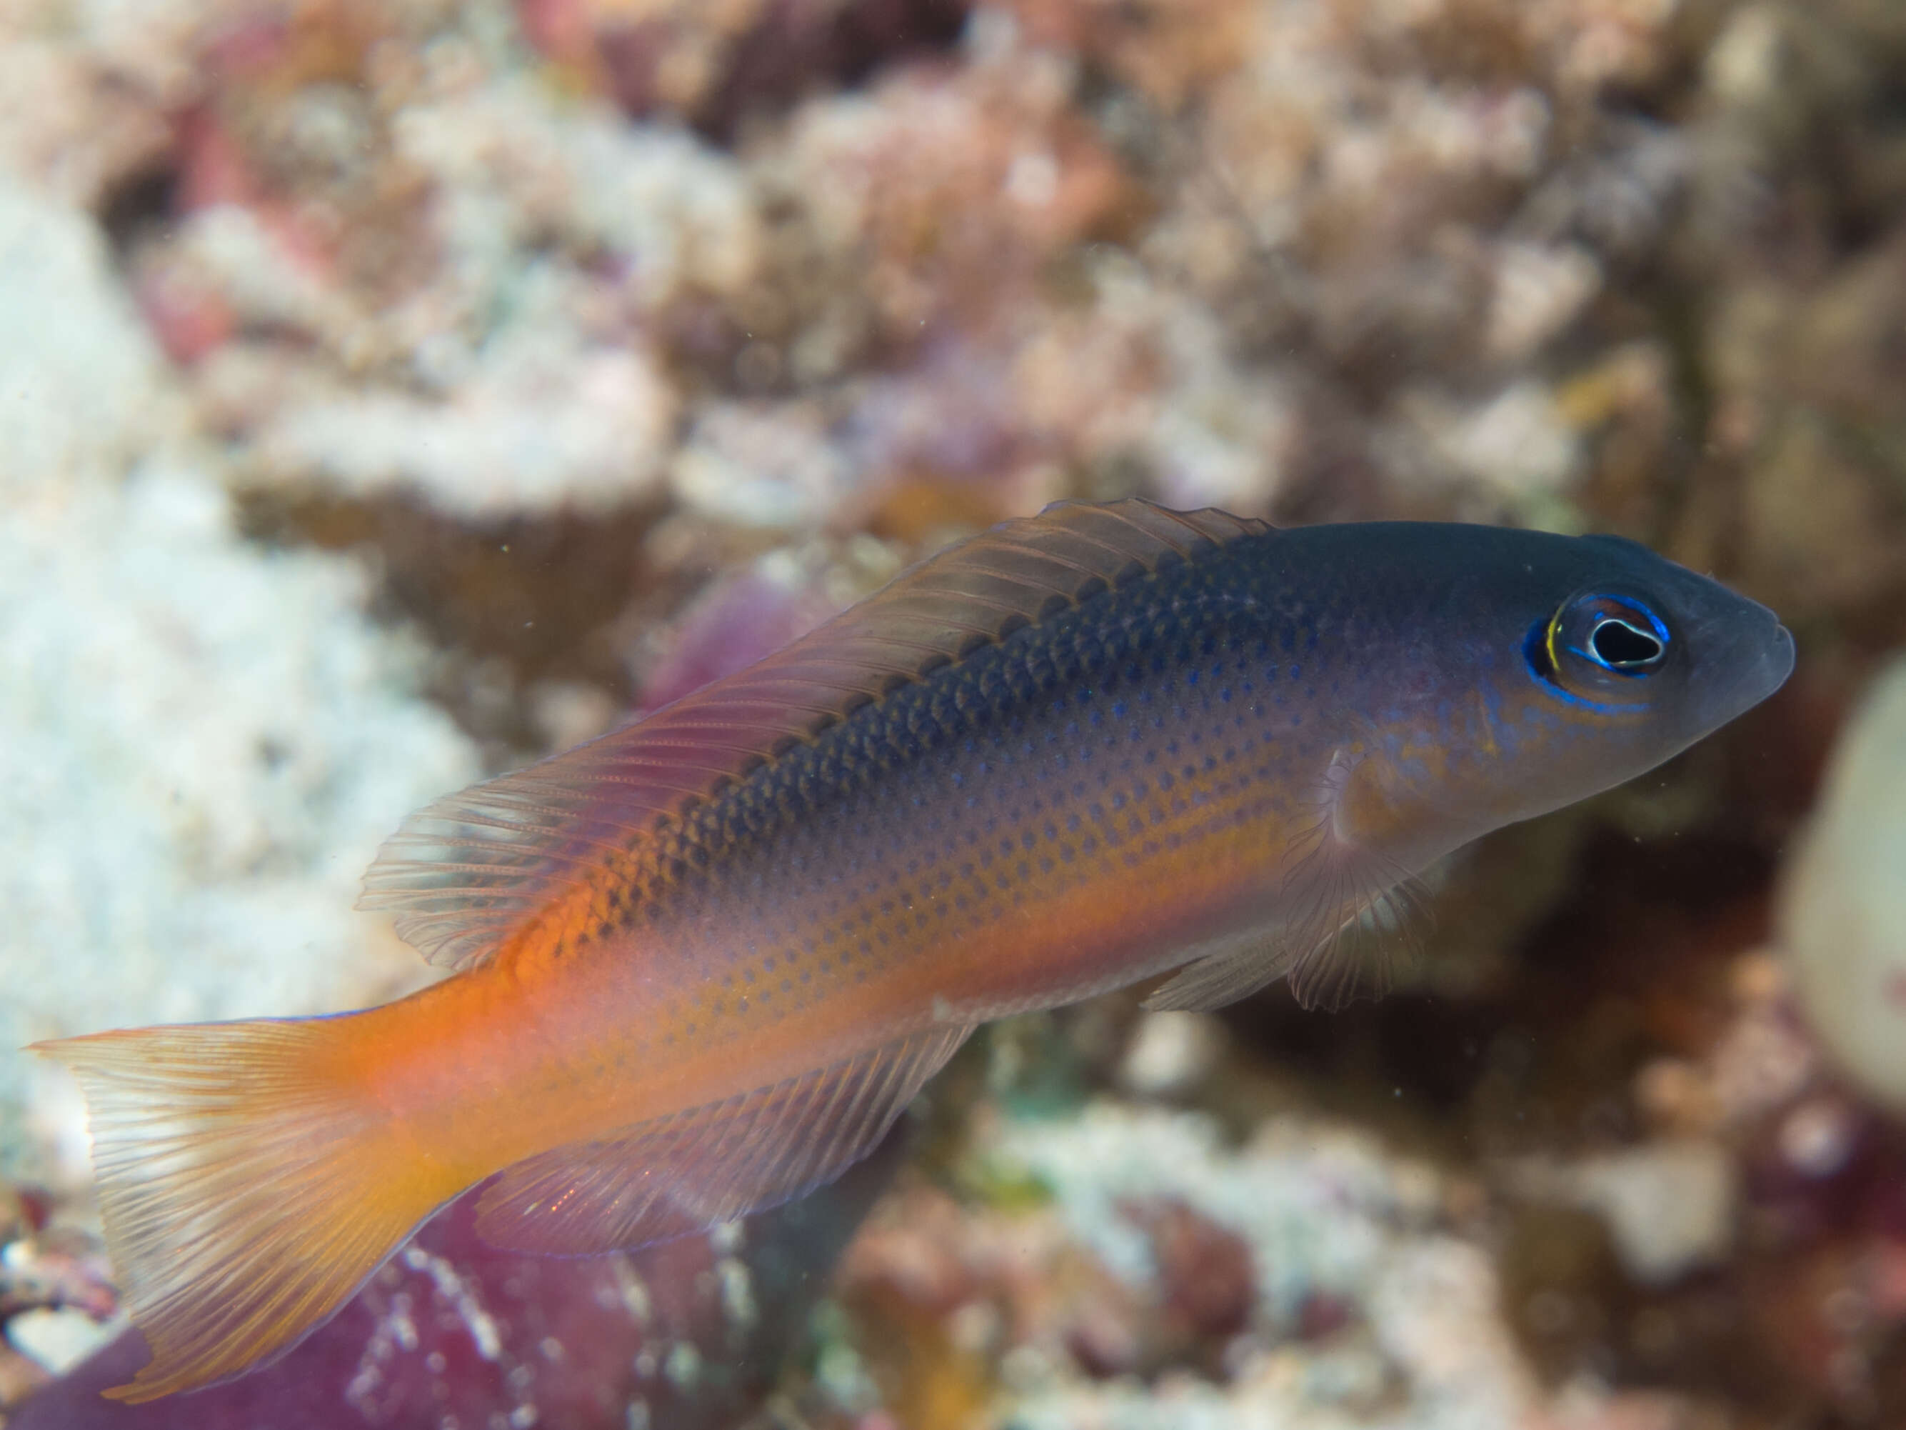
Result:
{"label": "blurred mottled coral reef background surrounding the fish", "polygon": [[6,1049],[414,986],[408,808],[1125,494],[1622,532],[1801,665],[1382,1005],[1001,1026],[659,1258],[452,1213],[196,1422],[1906,1422],[1902,393],[1895,0],[0,0],[0,1422],[170,1424],[32,1399],[122,1327]]}

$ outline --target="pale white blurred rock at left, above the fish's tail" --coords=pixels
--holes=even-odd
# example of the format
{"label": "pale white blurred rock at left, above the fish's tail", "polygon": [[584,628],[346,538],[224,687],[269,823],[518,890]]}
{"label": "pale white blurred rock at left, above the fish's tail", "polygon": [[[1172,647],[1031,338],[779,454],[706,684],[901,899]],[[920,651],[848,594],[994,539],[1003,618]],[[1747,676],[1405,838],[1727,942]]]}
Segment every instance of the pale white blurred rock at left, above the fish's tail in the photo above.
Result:
{"label": "pale white blurred rock at left, above the fish's tail", "polygon": [[[97,229],[0,177],[0,1043],[318,1012],[414,972],[351,913],[475,772],[349,559],[240,540]],[[76,1093],[0,1062],[0,1171],[84,1178]]]}

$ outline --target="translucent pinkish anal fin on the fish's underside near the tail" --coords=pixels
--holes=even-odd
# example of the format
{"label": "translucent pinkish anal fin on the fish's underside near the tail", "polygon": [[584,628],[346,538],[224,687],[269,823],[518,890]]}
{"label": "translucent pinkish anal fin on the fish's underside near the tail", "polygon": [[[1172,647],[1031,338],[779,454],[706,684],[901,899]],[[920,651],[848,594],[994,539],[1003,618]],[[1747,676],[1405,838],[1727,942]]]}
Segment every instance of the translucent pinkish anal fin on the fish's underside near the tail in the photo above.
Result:
{"label": "translucent pinkish anal fin on the fish's underside near the tail", "polygon": [[751,1093],[518,1161],[476,1230],[505,1251],[593,1255],[793,1201],[865,1157],[972,1028],[909,1033]]}

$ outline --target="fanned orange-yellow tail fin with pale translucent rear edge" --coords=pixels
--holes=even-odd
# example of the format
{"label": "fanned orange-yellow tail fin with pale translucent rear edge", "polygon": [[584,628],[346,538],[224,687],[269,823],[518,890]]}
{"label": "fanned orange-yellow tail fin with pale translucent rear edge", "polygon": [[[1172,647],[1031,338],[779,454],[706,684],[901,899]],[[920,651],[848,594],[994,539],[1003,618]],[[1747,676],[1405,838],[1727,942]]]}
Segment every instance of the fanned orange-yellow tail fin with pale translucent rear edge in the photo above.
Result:
{"label": "fanned orange-yellow tail fin with pale translucent rear edge", "polygon": [[112,1399],[227,1380],[290,1350],[459,1190],[402,1165],[377,1108],[339,1075],[347,1022],[34,1045],[86,1091],[107,1251],[152,1348]]}

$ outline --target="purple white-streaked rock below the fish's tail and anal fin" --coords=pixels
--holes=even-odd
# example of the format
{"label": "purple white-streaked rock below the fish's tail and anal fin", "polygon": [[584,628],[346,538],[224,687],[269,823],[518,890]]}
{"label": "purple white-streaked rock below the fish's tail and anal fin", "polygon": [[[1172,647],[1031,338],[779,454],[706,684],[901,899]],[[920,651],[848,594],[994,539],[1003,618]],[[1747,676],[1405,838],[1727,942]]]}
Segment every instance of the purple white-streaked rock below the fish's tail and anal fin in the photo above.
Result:
{"label": "purple white-streaked rock below the fish's tail and anal fin", "polygon": [[193,1396],[99,1396],[145,1359],[126,1331],[10,1430],[722,1430],[772,1386],[825,1272],[903,1152],[896,1133],[806,1201],[612,1256],[484,1245],[475,1195],[438,1213],[284,1359]]}

